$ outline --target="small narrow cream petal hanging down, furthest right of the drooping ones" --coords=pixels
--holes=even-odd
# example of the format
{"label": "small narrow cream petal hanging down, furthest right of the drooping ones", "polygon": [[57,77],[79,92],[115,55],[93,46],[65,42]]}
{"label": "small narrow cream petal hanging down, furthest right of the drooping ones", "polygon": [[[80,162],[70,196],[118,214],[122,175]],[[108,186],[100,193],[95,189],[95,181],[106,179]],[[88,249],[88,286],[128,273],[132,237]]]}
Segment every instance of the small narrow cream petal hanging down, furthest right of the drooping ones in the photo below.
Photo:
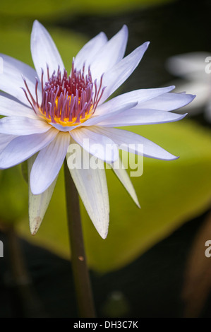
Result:
{"label": "small narrow cream petal hanging down, furthest right of the drooping ones", "polygon": [[131,196],[135,204],[138,206],[138,208],[140,208],[140,204],[138,202],[138,197],[135,193],[135,189],[133,187],[130,177],[128,176],[128,173],[126,172],[123,166],[123,163],[121,162],[121,159],[119,158],[118,161],[112,163],[111,167],[113,168],[116,176],[119,178],[119,180],[125,187],[126,191],[128,191],[128,194]]}

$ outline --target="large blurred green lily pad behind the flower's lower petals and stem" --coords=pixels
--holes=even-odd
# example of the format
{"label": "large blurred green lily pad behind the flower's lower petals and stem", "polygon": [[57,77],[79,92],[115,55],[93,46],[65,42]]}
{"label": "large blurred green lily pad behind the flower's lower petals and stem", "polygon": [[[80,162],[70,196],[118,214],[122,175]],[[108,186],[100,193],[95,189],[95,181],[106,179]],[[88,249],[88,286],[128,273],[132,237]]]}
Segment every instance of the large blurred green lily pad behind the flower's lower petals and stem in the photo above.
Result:
{"label": "large blurred green lily pad behind the flower's lower petals and stem", "polygon": [[[181,157],[174,161],[144,158],[143,176],[132,178],[141,210],[113,172],[107,170],[111,214],[105,240],[100,238],[81,204],[88,261],[97,271],[125,265],[210,206],[210,132],[188,121],[138,126],[131,130]],[[37,235],[30,235],[27,220],[19,225],[19,230],[30,241],[68,256],[62,175]]]}

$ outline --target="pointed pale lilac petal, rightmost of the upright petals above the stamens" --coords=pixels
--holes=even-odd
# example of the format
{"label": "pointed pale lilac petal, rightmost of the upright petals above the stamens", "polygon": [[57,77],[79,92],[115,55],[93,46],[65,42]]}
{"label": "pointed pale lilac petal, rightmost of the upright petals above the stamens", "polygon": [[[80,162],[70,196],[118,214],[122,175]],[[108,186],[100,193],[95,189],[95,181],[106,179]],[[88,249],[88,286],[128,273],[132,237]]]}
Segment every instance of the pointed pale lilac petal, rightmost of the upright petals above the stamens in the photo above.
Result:
{"label": "pointed pale lilac petal, rightmost of the upright petals above the stamens", "polygon": [[102,86],[106,86],[107,88],[104,90],[102,98],[100,99],[100,104],[102,104],[104,100],[107,100],[109,95],[114,93],[114,91],[118,89],[124,81],[126,81],[131,73],[133,73],[149,44],[149,42],[145,42],[140,47],[137,47],[137,49],[135,49],[131,54],[128,54],[127,57],[123,58],[118,62],[118,64],[113,66],[104,74]]}

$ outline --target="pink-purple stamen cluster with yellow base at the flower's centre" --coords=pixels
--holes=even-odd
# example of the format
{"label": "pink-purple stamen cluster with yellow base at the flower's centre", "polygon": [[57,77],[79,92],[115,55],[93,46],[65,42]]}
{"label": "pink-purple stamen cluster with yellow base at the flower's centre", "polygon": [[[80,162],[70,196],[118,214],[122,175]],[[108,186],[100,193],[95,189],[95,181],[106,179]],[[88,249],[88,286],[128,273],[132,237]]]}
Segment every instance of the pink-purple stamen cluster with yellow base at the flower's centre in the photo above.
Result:
{"label": "pink-purple stamen cluster with yellow base at the flower's centre", "polygon": [[65,69],[62,75],[58,68],[57,73],[54,71],[50,77],[47,66],[48,81],[46,83],[43,82],[43,77],[44,71],[42,70],[42,102],[40,104],[37,97],[37,78],[35,83],[36,100],[30,93],[25,78],[23,81],[26,90],[23,88],[23,91],[35,113],[37,114],[37,109],[40,110],[44,117],[54,124],[58,123],[58,120],[64,124],[72,121],[79,123],[88,114],[94,114],[105,89],[105,87],[102,88],[102,76],[97,88],[97,80],[92,82],[90,68],[88,74],[85,75],[85,65],[82,71],[77,71],[74,69],[74,61],[70,76],[67,75]]}

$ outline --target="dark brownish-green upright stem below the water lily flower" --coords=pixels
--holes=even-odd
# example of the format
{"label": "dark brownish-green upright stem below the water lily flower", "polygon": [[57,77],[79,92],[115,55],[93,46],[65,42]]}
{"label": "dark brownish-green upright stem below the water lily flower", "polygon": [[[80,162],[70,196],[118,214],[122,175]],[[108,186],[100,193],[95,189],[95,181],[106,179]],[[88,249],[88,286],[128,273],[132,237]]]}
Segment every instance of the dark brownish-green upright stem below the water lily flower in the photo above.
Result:
{"label": "dark brownish-green upright stem below the water lily flower", "polygon": [[76,287],[78,314],[83,318],[94,318],[95,307],[92,298],[90,276],[85,257],[78,191],[73,182],[73,179],[71,178],[66,160],[64,162],[64,174],[66,186],[68,230],[71,241],[71,263],[74,283]]}

